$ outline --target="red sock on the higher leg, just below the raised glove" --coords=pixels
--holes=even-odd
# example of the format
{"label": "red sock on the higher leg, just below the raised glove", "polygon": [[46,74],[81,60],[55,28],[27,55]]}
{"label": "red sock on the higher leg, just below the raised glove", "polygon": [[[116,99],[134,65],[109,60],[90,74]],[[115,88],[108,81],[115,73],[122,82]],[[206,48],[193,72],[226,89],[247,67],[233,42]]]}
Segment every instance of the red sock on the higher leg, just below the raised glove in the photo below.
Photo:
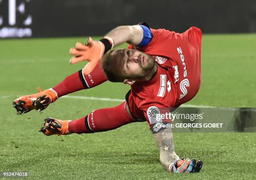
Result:
{"label": "red sock on the higher leg, just below the raised glove", "polygon": [[106,80],[105,74],[99,63],[89,75],[84,75],[82,70],[79,70],[78,72],[66,77],[58,85],[52,87],[52,89],[57,92],[58,97],[61,97],[82,89],[95,87]]}

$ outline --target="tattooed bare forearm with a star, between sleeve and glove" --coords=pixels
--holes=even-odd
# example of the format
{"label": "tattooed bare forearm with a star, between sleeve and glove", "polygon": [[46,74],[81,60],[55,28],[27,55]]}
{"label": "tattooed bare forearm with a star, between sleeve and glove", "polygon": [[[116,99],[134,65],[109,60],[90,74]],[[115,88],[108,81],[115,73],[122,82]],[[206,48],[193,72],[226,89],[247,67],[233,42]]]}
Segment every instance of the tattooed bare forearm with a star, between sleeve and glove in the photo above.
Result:
{"label": "tattooed bare forearm with a star, between sleeve and glove", "polygon": [[174,152],[172,131],[166,128],[159,133],[155,133],[154,138],[159,147],[160,162],[166,170],[169,170],[169,165],[179,159]]}

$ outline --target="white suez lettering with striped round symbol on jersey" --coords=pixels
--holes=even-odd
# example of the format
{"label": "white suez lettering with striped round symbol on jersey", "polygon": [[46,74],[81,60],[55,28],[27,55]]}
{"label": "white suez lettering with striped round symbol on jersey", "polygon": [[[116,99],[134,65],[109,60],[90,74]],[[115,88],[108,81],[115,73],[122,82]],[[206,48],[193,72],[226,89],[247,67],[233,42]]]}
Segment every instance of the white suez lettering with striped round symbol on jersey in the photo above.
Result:
{"label": "white suez lettering with striped round symbol on jersey", "polygon": [[[185,59],[184,59],[184,55],[182,54],[181,47],[177,47],[177,51],[180,54],[180,60],[182,61],[182,65],[183,65],[183,69],[184,69],[183,76],[187,77],[187,69],[186,69]],[[185,95],[187,95],[186,87],[189,87],[189,80],[187,78],[182,80],[182,82],[180,82],[180,84],[179,84],[179,88],[183,93],[183,94],[179,95],[179,99],[182,99]]]}

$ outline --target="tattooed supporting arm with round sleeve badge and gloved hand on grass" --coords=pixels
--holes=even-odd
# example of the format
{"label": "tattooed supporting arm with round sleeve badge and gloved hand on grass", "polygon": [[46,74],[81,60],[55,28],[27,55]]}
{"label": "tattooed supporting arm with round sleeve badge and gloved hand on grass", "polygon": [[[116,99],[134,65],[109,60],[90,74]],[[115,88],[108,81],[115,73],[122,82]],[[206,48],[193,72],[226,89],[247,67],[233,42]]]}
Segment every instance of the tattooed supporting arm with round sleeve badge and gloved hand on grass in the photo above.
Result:
{"label": "tattooed supporting arm with round sleeve badge and gloved hand on grass", "polygon": [[[161,128],[161,125],[170,123],[169,119],[162,118],[161,115],[169,112],[169,108],[158,108],[151,106],[144,111],[144,116],[150,124],[154,134],[156,144],[159,147],[160,162],[166,170],[172,173],[197,173],[202,168],[202,161],[192,159],[179,159],[174,152],[174,144],[171,128]],[[160,119],[159,119],[160,118]]]}

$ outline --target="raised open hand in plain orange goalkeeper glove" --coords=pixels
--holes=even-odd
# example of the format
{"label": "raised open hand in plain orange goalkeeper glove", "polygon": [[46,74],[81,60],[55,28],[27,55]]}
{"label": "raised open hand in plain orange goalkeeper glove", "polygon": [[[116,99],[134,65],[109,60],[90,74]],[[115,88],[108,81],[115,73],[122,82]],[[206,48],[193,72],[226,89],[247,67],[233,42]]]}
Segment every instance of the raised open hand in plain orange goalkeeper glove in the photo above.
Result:
{"label": "raised open hand in plain orange goalkeeper glove", "polygon": [[103,57],[104,50],[105,46],[102,42],[94,41],[89,37],[87,45],[77,42],[76,47],[72,47],[69,50],[69,54],[74,55],[74,57],[70,59],[70,64],[87,60],[88,63],[84,66],[83,73],[88,75]]}

